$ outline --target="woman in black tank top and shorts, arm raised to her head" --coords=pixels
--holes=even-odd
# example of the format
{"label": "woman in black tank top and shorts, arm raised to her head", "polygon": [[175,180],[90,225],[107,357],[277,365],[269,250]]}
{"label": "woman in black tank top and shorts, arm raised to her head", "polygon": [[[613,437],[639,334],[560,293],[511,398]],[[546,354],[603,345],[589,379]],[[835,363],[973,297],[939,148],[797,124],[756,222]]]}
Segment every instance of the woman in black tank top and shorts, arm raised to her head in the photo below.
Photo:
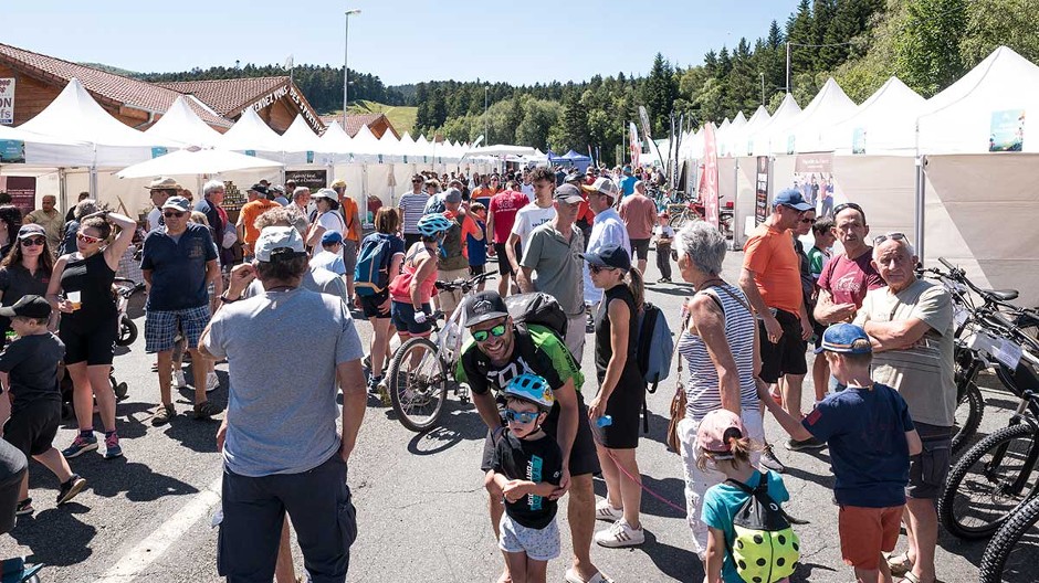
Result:
{"label": "woman in black tank top and shorts, arm raised to her head", "polygon": [[[106,245],[113,225],[119,231]],[[95,399],[105,427],[105,457],[123,455],[115,431],[115,393],[108,383],[118,333],[112,280],[136,227],[128,216],[107,211],[82,218],[76,251],[59,257],[46,289],[48,301],[61,311],[59,336],[65,343],[65,368],[72,378],[72,403],[80,426],[75,441],[62,452],[66,458],[97,449]]]}

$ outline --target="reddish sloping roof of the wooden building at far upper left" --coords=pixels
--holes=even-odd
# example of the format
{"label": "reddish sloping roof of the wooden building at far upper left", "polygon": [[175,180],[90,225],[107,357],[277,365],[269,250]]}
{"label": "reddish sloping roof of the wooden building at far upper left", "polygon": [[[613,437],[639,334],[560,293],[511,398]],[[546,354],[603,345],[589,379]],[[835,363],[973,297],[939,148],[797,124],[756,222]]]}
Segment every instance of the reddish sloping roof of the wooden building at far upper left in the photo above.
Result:
{"label": "reddish sloping roof of the wooden building at far upper left", "polygon": [[[124,77],[107,71],[71,63],[53,56],[46,56],[8,44],[0,44],[0,63],[25,68],[36,76],[59,84],[77,78],[99,100],[111,105],[129,105],[147,112],[161,114],[172,106],[177,92],[132,77]],[[191,109],[203,121],[213,126],[230,127],[231,121],[206,110],[199,104],[190,104]]]}

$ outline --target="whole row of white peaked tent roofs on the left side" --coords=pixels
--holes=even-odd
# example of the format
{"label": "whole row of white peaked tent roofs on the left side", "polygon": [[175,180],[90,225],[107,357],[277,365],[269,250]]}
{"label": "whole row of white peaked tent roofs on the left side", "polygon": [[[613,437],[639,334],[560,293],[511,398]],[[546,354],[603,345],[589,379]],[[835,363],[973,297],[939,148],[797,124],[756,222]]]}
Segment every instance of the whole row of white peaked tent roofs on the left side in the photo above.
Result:
{"label": "whole row of white peaked tent roofs on the left side", "polygon": [[[0,140],[24,142],[29,167],[124,168],[170,150],[214,148],[239,151],[285,165],[339,162],[431,162],[452,163],[463,158],[495,156],[495,147],[472,148],[469,144],[435,142],[426,136],[413,139],[408,132],[397,139],[387,131],[376,138],[364,126],[350,137],[332,124],[322,136],[297,115],[283,135],[264,123],[252,108],[224,134],[220,134],[179,97],[158,121],[145,131],[126,126],[111,116],[83,87],[71,80],[61,94],[40,114],[17,128],[0,126]],[[514,149],[513,149],[514,150]],[[510,150],[512,153],[518,153]],[[533,148],[522,153],[543,156]]]}

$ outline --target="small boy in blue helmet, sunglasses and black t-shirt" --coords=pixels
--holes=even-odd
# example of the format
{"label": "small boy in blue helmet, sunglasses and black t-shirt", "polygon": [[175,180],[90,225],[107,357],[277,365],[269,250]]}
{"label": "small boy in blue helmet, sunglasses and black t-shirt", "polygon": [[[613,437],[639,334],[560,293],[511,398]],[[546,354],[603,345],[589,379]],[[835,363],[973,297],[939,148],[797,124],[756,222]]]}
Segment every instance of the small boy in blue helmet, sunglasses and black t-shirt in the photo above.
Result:
{"label": "small boy in blue helmet, sunglasses and black t-shirt", "polygon": [[531,373],[513,378],[504,393],[507,427],[486,476],[505,497],[498,548],[513,581],[544,582],[548,561],[559,556],[557,501],[549,497],[563,477],[563,452],[542,430],[555,398],[548,381]]}

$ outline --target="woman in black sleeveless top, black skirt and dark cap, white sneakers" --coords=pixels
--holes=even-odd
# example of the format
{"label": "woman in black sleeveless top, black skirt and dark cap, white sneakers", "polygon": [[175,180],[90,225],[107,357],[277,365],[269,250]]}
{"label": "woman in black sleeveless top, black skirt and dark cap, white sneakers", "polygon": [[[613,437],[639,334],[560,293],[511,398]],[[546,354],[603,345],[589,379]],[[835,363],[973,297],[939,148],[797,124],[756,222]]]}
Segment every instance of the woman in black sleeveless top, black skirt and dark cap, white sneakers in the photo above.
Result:
{"label": "woman in black sleeveless top, black skirt and dark cap, white sneakers", "polygon": [[[607,245],[585,259],[596,287],[604,289],[596,316],[596,377],[599,392],[588,405],[596,453],[606,480],[607,498],[596,505],[596,518],[617,520],[596,533],[602,547],[631,547],[646,540],[639,512],[642,489],[636,448],[646,381],[639,371],[639,310],[642,274],[631,267],[627,250]],[[609,417],[607,424],[606,417]]]}

